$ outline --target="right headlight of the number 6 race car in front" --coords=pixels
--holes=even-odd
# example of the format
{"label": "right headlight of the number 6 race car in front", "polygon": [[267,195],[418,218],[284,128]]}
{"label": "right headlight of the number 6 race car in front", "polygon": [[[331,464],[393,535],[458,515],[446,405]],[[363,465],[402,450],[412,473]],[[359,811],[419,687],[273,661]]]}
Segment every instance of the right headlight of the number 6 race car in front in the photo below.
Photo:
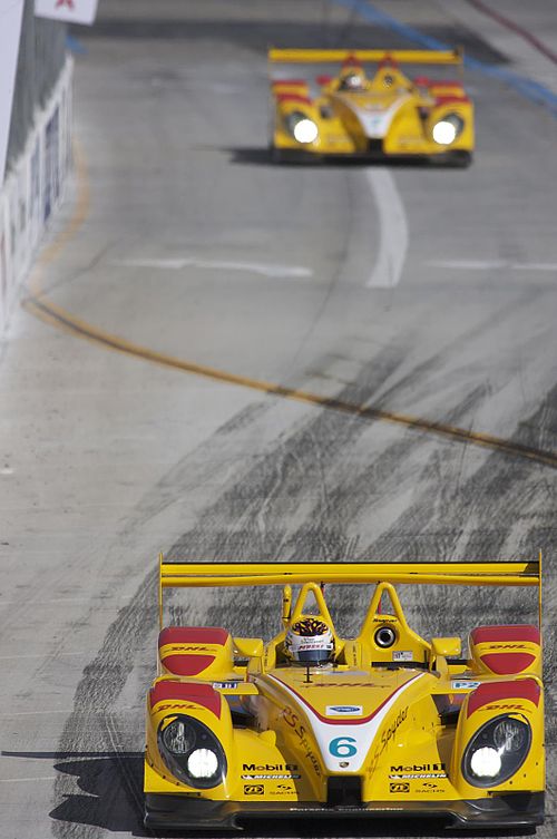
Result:
{"label": "right headlight of the number 6 race car in front", "polygon": [[522,765],[531,729],[515,716],[496,716],[478,729],[462,758],[462,774],[473,787],[497,787]]}

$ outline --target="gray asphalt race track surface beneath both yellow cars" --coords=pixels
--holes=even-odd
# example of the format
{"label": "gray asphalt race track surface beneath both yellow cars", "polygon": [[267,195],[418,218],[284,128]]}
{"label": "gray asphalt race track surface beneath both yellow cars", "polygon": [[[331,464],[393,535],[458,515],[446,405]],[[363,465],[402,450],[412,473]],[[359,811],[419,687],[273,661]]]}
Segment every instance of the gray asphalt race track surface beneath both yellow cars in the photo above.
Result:
{"label": "gray asphalt race track surface beneath both yellow cars", "polygon": [[[382,8],[512,68],[511,53],[443,3]],[[268,43],[411,45],[316,0],[113,0],[80,36],[77,175],[30,294],[40,284],[95,330],[173,359],[557,451],[557,120],[547,110],[468,74],[470,169],[278,168],[266,153]],[[385,225],[401,230],[397,202],[403,269],[398,284],[370,286],[392,247]],[[541,548],[550,782],[538,836],[553,839],[555,468],[154,364],[33,312],[16,313],[0,360],[0,836],[145,835],[158,550],[437,560]],[[524,592],[402,596],[427,635],[536,617]],[[334,607],[350,632],[364,597],[344,591]],[[278,603],[271,592],[256,605],[219,594],[173,601],[170,612],[252,635],[274,631]],[[261,835],[281,831],[316,835]]]}

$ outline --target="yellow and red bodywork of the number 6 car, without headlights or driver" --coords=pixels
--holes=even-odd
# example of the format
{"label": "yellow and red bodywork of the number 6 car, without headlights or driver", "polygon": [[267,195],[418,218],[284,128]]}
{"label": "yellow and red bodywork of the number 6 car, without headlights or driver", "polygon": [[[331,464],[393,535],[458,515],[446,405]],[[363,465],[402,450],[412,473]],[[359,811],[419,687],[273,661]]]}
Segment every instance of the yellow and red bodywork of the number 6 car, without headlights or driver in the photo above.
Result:
{"label": "yellow and red bodywork of the number 6 car, without headlights or driver", "polygon": [[[536,627],[483,627],[472,633],[468,654],[456,658],[460,638],[427,641],[408,625],[397,582],[539,588],[540,563],[162,559],[162,624],[167,587],[282,585],[284,630],[267,643],[214,628],[184,630],[182,641],[179,627],[162,632],[159,675],[147,697],[146,793],[238,806],[328,804],[336,794],[335,779],[344,783],[352,778],[363,804],[434,801],[442,809],[443,801],[541,792],[544,703]],[[285,630],[303,615],[306,602],[332,625],[324,583],[374,583],[375,588],[358,636],[342,638],[334,632],[333,664],[293,665],[285,655]],[[301,586],[295,602],[292,585]],[[395,638],[388,647],[378,642],[378,631],[385,627]],[[492,643],[486,641],[490,633]],[[526,640],[500,641],[517,633]],[[501,667],[508,672],[495,672]],[[525,723],[530,748],[519,771],[506,781],[475,786],[463,769],[467,745],[487,721],[500,715]],[[160,736],[178,716],[198,721],[222,745],[225,770],[216,786],[199,789],[169,770]]]}

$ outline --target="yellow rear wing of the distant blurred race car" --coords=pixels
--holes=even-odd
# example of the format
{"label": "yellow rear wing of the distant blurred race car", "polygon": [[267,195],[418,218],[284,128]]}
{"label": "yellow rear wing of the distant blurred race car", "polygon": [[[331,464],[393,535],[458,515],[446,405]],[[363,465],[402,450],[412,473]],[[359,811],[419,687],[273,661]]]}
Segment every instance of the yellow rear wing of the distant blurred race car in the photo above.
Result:
{"label": "yellow rear wing of the distant blurred race car", "polygon": [[378,64],[398,61],[413,65],[462,65],[465,53],[461,47],[453,50],[428,49],[276,49],[268,50],[272,64],[342,64],[356,61]]}

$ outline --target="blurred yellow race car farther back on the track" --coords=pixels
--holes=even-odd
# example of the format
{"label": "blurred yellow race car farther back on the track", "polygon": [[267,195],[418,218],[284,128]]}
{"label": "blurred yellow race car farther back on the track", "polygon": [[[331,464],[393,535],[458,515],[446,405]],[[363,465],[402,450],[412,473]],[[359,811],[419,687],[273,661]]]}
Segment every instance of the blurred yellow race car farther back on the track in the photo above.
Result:
{"label": "blurred yellow race car farther back on the track", "polygon": [[[270,65],[341,62],[338,76],[272,79],[271,148],[276,162],[309,157],[422,157],[467,166],[473,106],[460,80],[411,79],[401,64],[462,65],[461,50],[271,49]],[[377,66],[368,75],[364,64]]]}

